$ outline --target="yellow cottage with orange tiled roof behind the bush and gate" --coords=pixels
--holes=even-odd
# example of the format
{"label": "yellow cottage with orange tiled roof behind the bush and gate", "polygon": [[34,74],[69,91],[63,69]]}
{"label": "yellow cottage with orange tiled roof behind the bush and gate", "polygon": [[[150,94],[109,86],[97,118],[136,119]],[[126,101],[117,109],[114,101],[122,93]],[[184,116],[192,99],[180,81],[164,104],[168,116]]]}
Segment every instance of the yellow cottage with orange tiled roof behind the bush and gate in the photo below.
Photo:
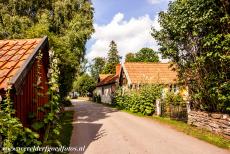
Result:
{"label": "yellow cottage with orange tiled roof behind the bush and gate", "polygon": [[119,84],[124,90],[139,89],[145,84],[164,85],[167,91],[182,92],[178,85],[177,72],[169,63],[127,62],[122,65]]}

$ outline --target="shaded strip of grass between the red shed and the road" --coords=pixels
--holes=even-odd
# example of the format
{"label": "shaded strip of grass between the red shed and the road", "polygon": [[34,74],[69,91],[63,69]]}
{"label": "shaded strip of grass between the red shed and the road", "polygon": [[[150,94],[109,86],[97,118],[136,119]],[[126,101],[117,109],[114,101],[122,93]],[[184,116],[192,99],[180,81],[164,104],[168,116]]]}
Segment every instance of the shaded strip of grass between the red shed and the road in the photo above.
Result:
{"label": "shaded strip of grass between the red shed and the road", "polygon": [[72,135],[72,121],[74,111],[65,111],[60,117],[60,124],[62,125],[61,134],[59,135],[59,141],[62,146],[69,147],[70,139]]}

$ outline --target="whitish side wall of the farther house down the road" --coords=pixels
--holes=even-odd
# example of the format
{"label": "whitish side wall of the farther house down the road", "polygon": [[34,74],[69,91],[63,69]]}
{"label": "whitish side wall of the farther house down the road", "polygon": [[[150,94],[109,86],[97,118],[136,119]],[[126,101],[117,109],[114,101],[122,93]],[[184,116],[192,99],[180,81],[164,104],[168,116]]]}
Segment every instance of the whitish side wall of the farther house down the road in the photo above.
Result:
{"label": "whitish side wall of the farther house down the road", "polygon": [[[104,88],[104,94],[103,94],[103,88]],[[97,87],[95,93],[101,96],[102,103],[111,104],[112,103],[111,95],[112,95],[112,91],[114,90],[115,90],[115,84],[105,85],[105,86]]]}

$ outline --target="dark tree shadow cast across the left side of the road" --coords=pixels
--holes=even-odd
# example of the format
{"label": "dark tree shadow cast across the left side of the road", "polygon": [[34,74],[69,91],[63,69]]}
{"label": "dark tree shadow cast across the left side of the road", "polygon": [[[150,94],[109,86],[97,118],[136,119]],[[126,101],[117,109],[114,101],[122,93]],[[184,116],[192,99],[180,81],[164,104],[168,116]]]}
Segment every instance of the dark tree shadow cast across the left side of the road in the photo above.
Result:
{"label": "dark tree shadow cast across the left side of the road", "polygon": [[68,110],[75,111],[70,146],[84,147],[85,151],[92,142],[107,135],[106,130],[101,129],[103,123],[100,120],[110,117],[111,113],[118,112],[118,110],[89,101],[74,101],[73,105],[68,108]]}

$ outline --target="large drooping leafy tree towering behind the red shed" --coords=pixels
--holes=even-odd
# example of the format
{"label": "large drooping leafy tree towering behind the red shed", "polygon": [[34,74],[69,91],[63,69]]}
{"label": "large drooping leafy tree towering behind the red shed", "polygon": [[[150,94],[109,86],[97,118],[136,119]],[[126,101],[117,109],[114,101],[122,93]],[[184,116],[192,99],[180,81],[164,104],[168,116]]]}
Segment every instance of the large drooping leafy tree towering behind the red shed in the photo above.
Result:
{"label": "large drooping leafy tree towering behind the red shed", "polygon": [[84,60],[85,44],[93,33],[93,8],[87,0],[0,1],[0,39],[48,35],[59,58],[60,94],[72,89]]}

